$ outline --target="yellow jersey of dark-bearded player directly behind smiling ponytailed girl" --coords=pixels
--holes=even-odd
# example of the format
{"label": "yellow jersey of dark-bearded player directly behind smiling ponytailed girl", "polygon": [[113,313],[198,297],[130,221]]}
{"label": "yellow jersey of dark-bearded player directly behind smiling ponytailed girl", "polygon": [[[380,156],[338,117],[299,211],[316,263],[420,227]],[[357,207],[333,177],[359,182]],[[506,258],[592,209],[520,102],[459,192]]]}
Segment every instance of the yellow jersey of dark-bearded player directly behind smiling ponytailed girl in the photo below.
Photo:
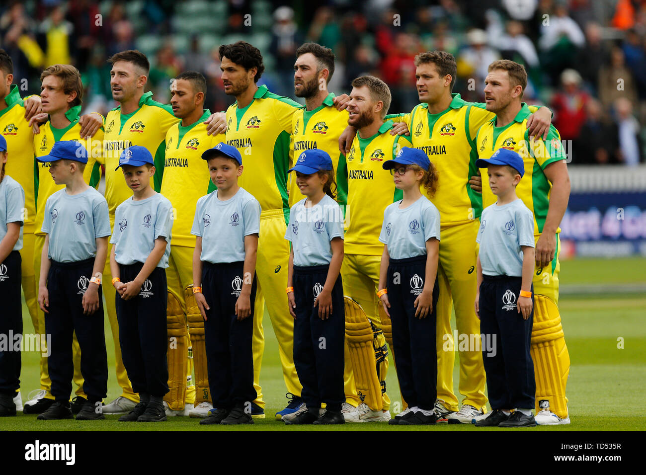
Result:
{"label": "yellow jersey of dark-bearded player directly behind smiling ponytailed girl", "polygon": [[[337,111],[333,100],[334,94],[328,94],[317,109],[307,111],[304,106],[294,113],[291,118],[291,147],[294,158],[311,149],[329,154],[337,178],[337,202],[345,205],[348,202],[348,173],[346,158],[339,152],[339,136],[348,126],[348,111]],[[296,185],[295,175],[289,174],[289,207],[304,198]]]}

